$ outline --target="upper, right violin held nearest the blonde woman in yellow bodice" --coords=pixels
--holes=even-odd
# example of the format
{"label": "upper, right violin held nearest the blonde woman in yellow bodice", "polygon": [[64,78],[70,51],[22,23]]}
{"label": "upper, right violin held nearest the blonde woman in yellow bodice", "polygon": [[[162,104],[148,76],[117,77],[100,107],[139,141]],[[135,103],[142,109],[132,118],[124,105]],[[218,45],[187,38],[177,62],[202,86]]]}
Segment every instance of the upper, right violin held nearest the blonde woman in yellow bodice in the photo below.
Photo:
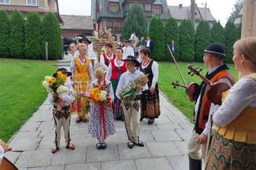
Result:
{"label": "upper, right violin held nearest the blonde woman in yellow bodice", "polygon": [[199,69],[198,67],[194,68],[191,64],[189,64],[187,67],[190,70],[188,74],[192,73],[191,76],[193,76],[194,74],[198,75],[199,78],[202,78],[206,85],[209,86],[209,89],[207,89],[206,91],[208,99],[210,99],[210,101],[214,104],[221,105],[221,94],[230,89],[230,86],[224,82],[216,82],[213,84],[210,80],[200,74],[200,71],[202,71],[202,69]]}

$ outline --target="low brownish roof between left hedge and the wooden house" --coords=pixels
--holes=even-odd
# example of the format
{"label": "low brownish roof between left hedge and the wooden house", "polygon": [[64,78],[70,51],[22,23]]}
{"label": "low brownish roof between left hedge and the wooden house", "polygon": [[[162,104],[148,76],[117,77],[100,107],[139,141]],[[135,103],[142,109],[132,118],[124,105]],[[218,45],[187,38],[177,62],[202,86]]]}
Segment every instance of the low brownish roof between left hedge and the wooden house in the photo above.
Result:
{"label": "low brownish roof between left hedge and the wooden house", "polygon": [[93,30],[91,16],[61,15],[64,25],[61,30]]}

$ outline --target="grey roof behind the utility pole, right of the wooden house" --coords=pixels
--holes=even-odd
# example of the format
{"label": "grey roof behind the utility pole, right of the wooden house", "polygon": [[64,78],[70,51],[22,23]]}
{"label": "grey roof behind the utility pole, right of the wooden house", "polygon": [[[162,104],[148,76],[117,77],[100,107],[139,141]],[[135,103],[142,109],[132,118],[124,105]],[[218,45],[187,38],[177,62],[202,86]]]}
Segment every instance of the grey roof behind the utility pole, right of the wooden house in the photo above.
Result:
{"label": "grey roof behind the utility pole, right of the wooden house", "polygon": [[[169,12],[176,20],[189,20],[191,18],[191,6],[175,6],[169,5]],[[209,8],[195,8],[196,20],[214,21],[212,13]]]}

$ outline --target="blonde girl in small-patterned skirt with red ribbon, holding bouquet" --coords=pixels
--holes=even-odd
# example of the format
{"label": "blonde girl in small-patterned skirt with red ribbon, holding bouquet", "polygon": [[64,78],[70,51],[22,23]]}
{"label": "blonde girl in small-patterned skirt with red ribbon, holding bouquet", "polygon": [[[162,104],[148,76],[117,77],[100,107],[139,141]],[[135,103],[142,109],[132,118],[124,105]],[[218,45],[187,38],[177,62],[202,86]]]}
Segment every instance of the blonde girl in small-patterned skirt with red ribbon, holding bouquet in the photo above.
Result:
{"label": "blonde girl in small-patterned skirt with red ribbon, holding bouquet", "polygon": [[[95,81],[91,82],[90,89],[101,88],[102,90],[105,90],[108,96],[111,98],[111,101],[113,101],[114,93],[111,81],[105,78],[105,71],[102,67],[96,68],[95,77]],[[109,106],[107,104],[104,104],[102,107],[101,103],[91,101],[88,128],[91,136],[98,139],[98,143],[96,144],[96,148],[98,150],[105,150],[106,137],[112,136],[115,133],[115,128],[113,125],[113,112],[111,107],[111,105]]]}

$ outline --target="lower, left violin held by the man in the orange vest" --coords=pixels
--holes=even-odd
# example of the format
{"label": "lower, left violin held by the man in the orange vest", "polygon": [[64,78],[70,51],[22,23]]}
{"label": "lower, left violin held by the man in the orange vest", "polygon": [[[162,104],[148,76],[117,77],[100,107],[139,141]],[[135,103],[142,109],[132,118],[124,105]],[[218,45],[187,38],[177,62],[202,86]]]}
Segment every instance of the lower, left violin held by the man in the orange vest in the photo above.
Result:
{"label": "lower, left violin held by the man in the orange vest", "polygon": [[180,81],[172,82],[173,88],[176,89],[176,87],[181,87],[186,89],[186,94],[188,96],[188,99],[191,102],[195,101],[195,97],[197,95],[199,85],[195,82],[191,82],[189,85],[180,85]]}

